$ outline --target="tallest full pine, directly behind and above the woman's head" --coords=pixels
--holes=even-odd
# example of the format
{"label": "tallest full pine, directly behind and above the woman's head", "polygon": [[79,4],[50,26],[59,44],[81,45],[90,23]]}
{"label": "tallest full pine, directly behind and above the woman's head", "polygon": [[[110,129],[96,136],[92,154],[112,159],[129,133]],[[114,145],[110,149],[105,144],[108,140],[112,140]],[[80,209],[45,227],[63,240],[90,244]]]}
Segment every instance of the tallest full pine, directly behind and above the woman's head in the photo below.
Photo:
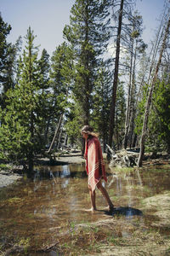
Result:
{"label": "tallest full pine, directly behind and above the woman's head", "polygon": [[86,125],[93,108],[92,94],[100,58],[110,38],[108,7],[109,1],[77,0],[71,9],[71,24],[64,29],[74,56],[72,91],[80,105],[82,124]]}

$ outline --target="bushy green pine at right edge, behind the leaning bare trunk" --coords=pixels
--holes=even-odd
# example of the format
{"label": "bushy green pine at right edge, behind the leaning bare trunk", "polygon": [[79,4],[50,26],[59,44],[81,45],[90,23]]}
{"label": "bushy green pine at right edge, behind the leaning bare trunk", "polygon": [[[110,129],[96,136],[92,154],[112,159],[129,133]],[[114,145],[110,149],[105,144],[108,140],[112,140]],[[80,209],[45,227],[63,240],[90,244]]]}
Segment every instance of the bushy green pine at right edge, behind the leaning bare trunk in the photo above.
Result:
{"label": "bushy green pine at right edge, behind the leaning bare trunk", "polygon": [[[142,132],[142,121],[144,118],[144,106],[147,100],[148,86],[144,86],[143,98],[139,102],[139,114],[136,119],[136,133]],[[148,119],[148,131],[145,136],[145,148],[152,154],[157,154],[162,150],[169,153],[170,145],[170,90],[169,79],[164,78],[158,80],[152,96],[152,106],[150,108],[150,116]]]}

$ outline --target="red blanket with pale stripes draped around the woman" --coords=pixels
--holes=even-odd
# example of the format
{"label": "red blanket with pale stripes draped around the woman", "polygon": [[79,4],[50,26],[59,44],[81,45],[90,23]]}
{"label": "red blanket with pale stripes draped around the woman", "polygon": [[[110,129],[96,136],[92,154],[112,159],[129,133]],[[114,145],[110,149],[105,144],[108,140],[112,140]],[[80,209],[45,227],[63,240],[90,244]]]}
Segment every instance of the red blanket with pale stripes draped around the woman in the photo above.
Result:
{"label": "red blanket with pale stripes draped around the woman", "polygon": [[90,137],[85,148],[86,171],[88,172],[88,185],[94,191],[96,184],[101,178],[107,178],[105,175],[105,163],[102,156],[102,151],[97,137]]}

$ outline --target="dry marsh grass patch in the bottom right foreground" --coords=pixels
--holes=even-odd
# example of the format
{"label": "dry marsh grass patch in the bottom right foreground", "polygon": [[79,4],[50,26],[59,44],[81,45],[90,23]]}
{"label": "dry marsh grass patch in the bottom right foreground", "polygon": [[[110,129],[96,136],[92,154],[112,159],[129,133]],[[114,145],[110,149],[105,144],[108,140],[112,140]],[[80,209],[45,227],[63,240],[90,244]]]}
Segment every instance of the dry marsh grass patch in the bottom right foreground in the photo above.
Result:
{"label": "dry marsh grass patch in the bottom right foreground", "polygon": [[[69,255],[112,255],[113,252],[113,255],[135,256],[141,252],[141,255],[160,256],[168,255],[170,248],[170,236],[162,236],[159,229],[148,229],[141,224],[141,218],[133,219],[131,224],[120,216],[95,223],[83,222],[74,224],[74,230],[67,243],[60,244],[66,255],[69,252]],[[127,232],[127,237],[122,236],[122,230]]]}

